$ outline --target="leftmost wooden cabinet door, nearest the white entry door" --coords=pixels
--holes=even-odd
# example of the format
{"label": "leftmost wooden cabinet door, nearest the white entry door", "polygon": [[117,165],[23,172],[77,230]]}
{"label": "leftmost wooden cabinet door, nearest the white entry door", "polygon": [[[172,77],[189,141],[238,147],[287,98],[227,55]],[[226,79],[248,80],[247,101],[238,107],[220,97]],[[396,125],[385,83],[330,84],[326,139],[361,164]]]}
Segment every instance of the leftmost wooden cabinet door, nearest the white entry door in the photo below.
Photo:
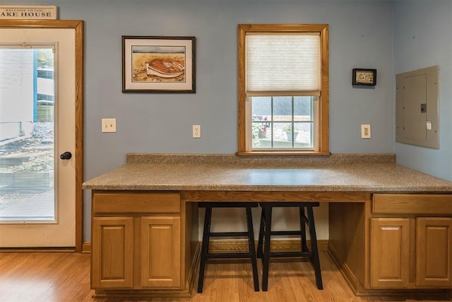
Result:
{"label": "leftmost wooden cabinet door, nearest the white entry door", "polygon": [[133,218],[94,217],[92,228],[92,288],[131,288],[133,286]]}

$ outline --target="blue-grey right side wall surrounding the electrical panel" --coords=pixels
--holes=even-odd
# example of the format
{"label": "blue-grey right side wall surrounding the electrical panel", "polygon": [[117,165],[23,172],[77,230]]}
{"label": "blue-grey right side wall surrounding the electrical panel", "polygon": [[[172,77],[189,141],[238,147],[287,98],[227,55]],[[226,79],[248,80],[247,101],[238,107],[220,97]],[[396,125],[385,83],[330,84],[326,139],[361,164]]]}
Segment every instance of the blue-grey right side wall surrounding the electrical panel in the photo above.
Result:
{"label": "blue-grey right side wall surrounding the electrical panel", "polygon": [[394,72],[439,65],[439,150],[395,143],[397,162],[452,180],[452,1],[396,1]]}

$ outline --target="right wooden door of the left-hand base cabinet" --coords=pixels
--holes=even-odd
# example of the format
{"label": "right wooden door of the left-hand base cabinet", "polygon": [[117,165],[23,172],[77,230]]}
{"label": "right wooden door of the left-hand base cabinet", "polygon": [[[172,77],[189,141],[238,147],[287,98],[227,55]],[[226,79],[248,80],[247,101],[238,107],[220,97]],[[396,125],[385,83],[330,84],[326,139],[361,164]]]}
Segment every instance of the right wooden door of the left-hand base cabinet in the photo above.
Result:
{"label": "right wooden door of the left-hand base cabinet", "polygon": [[141,217],[141,286],[181,286],[181,225],[178,216]]}

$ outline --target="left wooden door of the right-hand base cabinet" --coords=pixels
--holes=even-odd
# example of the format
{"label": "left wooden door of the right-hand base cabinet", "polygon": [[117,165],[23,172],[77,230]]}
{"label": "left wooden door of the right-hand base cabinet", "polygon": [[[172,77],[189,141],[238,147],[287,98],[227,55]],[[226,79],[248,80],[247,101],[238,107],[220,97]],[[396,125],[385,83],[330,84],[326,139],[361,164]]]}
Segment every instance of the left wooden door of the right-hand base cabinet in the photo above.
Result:
{"label": "left wooden door of the right-hand base cabinet", "polygon": [[371,219],[371,286],[403,288],[410,273],[410,219]]}

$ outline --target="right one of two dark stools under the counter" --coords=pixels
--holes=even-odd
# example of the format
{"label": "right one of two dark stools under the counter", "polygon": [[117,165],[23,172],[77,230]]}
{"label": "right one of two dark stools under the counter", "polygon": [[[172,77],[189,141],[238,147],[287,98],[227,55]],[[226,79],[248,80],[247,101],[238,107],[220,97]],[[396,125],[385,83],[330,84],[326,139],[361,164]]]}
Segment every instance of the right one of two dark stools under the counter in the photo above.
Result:
{"label": "right one of two dark stools under the counter", "polygon": [[[323,289],[319,250],[317,248],[316,226],[314,224],[314,212],[312,207],[319,207],[319,202],[261,202],[261,223],[259,226],[259,238],[257,245],[257,257],[262,258],[262,290],[268,289],[268,265],[273,257],[309,257],[316,274],[317,289]],[[276,207],[299,208],[299,231],[271,231],[272,209]],[[307,214],[306,214],[306,211]],[[306,244],[306,226],[311,236],[311,250]],[[301,249],[299,252],[270,252],[270,237],[281,235],[298,235],[301,237]],[[263,245],[263,247],[262,247]]]}

